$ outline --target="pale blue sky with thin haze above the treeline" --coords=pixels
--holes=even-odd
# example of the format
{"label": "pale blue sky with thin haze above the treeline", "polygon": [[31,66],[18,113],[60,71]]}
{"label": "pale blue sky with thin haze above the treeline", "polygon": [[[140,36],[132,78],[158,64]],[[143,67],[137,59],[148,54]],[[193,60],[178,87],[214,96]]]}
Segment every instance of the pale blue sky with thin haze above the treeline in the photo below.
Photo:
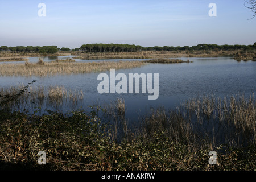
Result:
{"label": "pale blue sky with thin haze above the treeline", "polygon": [[[39,16],[45,3],[46,16]],[[216,3],[217,16],[208,7]],[[0,46],[253,44],[244,0],[0,0]]]}

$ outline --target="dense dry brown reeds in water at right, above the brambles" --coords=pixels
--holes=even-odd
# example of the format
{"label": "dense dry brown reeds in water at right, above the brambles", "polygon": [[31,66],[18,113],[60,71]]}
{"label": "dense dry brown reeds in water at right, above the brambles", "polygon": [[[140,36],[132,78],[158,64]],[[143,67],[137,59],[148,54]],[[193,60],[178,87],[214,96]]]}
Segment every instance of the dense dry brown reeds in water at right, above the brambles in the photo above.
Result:
{"label": "dense dry brown reeds in water at right, above the brambles", "polygon": [[229,98],[192,98],[177,107],[151,109],[141,118],[141,135],[152,139],[155,131],[190,150],[220,146],[241,147],[256,142],[256,102],[254,94]]}

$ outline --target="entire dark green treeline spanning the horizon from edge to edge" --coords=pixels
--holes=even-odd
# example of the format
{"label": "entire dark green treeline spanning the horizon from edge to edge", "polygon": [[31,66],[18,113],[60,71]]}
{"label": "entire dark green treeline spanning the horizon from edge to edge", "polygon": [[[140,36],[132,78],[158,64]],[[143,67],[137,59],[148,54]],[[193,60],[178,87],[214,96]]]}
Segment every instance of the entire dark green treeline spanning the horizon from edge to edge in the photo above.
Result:
{"label": "entire dark green treeline spanning the horizon from edge to edge", "polygon": [[68,47],[58,48],[57,46],[1,46],[0,51],[28,52],[28,53],[56,53],[58,51],[82,51],[82,52],[137,52],[137,51],[250,51],[256,49],[253,45],[217,45],[217,44],[198,44],[197,46],[154,46],[142,47],[129,44],[83,44],[80,48],[70,49]]}

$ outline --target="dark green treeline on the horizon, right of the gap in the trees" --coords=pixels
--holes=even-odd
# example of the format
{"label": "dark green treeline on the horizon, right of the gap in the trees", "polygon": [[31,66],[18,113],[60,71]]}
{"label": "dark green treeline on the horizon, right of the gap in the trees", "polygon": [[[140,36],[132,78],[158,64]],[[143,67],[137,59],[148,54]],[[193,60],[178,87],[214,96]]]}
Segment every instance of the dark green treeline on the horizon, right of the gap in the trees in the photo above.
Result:
{"label": "dark green treeline on the horizon, right of the gap in the trees", "polygon": [[197,46],[154,46],[142,47],[129,44],[84,44],[80,47],[84,52],[136,52],[136,51],[234,51],[234,50],[253,50],[256,49],[256,43],[253,45],[217,45],[217,44],[198,44]]}

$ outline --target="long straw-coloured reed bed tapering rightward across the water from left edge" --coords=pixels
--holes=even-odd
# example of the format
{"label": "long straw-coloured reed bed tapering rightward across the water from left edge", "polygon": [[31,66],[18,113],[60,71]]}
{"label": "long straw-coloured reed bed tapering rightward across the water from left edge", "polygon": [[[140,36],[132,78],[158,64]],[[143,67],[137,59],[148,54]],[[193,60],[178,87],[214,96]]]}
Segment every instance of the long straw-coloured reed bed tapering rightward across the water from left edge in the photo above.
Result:
{"label": "long straw-coloured reed bed tapering rightward across the water from left edge", "polygon": [[78,73],[100,72],[109,69],[129,69],[146,65],[142,61],[102,61],[92,63],[51,63],[1,64],[0,76],[53,76]]}

